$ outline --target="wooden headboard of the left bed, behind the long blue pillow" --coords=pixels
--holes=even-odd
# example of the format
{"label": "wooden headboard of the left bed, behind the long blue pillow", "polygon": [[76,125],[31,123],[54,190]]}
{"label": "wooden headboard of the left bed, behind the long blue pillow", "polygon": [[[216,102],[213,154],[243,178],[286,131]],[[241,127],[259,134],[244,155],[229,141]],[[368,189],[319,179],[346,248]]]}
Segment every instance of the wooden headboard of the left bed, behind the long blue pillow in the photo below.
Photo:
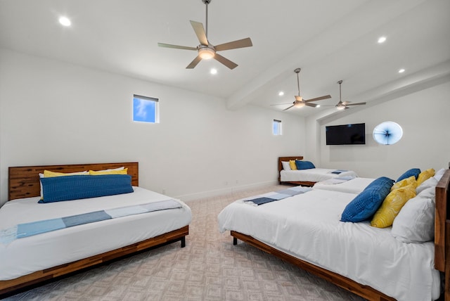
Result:
{"label": "wooden headboard of the left bed, behind the long blue pillow", "polygon": [[39,196],[41,194],[39,173],[43,173],[44,169],[52,172],[83,172],[84,170],[102,170],[122,166],[128,168],[131,185],[139,186],[139,162],[9,167],[8,200]]}

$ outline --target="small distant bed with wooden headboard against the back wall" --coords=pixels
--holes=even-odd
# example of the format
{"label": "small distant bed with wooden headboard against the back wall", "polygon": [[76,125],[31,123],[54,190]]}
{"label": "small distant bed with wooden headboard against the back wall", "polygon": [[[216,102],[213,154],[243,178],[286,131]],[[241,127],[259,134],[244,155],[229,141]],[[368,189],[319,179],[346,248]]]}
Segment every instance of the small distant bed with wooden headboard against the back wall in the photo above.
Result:
{"label": "small distant bed with wooden headboard against the back wall", "polygon": [[[358,177],[352,170],[308,168],[308,169],[285,169],[283,162],[303,160],[302,156],[279,157],[278,158],[278,181],[280,184],[295,184],[302,186],[313,186],[316,182],[333,179],[336,177]],[[307,162],[307,161],[305,161]]]}

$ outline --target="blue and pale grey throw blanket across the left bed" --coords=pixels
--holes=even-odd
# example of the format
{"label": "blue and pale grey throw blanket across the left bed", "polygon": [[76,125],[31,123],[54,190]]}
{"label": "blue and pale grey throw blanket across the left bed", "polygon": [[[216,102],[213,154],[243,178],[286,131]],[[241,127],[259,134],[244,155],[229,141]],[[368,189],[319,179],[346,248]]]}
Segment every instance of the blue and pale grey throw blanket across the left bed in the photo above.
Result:
{"label": "blue and pale grey throw blanket across the left bed", "polygon": [[180,207],[182,206],[179,202],[169,199],[141,205],[87,212],[83,214],[71,215],[69,217],[60,217],[57,219],[45,219],[37,222],[18,224],[12,226],[11,228],[0,230],[0,243],[6,245],[18,238],[34,236],[49,231],[69,228],[71,226],[78,226],[82,224],[104,221],[106,219],[115,219],[117,217],[126,217],[128,215]]}

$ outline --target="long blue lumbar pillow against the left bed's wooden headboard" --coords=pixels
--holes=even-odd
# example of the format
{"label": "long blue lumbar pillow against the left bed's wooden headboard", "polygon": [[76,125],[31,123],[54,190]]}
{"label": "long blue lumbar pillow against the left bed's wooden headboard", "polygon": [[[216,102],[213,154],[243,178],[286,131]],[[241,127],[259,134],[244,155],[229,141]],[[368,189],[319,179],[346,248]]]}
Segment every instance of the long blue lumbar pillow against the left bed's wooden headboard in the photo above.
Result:
{"label": "long blue lumbar pillow against the left bed's wooden headboard", "polygon": [[129,174],[49,177],[41,178],[41,184],[44,198],[38,203],[97,198],[133,192]]}

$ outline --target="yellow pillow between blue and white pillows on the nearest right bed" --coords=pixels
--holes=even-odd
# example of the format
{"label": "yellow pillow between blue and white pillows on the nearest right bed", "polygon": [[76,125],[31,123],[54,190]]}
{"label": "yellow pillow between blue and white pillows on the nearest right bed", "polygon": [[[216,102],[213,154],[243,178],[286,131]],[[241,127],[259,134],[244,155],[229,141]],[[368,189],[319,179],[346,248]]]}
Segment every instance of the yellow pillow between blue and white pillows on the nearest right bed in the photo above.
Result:
{"label": "yellow pillow between blue and white pillows on the nearest right bed", "polygon": [[392,226],[395,217],[399,214],[401,207],[406,204],[410,198],[416,196],[416,187],[413,185],[404,186],[391,191],[380,208],[378,208],[371,222],[371,226],[377,228],[386,228]]}

